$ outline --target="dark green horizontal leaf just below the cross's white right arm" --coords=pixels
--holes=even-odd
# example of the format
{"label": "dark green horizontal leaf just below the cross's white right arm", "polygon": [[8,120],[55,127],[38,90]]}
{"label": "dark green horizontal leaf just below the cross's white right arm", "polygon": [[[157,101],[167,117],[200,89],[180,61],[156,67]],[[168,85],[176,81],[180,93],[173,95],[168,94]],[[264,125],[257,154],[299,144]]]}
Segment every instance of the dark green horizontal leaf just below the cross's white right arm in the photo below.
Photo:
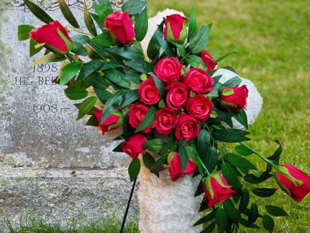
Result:
{"label": "dark green horizontal leaf just below the cross's white right arm", "polygon": [[227,130],[213,130],[212,136],[218,141],[223,141],[225,143],[240,143],[242,141],[249,141],[245,135],[249,132],[236,129],[227,129]]}

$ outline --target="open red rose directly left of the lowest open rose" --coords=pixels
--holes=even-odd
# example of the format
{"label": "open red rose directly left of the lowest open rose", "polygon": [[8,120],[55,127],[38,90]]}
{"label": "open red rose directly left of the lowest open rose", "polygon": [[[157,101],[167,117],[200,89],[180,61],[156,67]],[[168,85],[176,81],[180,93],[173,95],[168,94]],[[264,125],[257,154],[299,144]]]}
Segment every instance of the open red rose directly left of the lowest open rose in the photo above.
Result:
{"label": "open red rose directly left of the lowest open rose", "polygon": [[176,127],[178,113],[167,107],[156,112],[156,130],[160,134],[169,134]]}

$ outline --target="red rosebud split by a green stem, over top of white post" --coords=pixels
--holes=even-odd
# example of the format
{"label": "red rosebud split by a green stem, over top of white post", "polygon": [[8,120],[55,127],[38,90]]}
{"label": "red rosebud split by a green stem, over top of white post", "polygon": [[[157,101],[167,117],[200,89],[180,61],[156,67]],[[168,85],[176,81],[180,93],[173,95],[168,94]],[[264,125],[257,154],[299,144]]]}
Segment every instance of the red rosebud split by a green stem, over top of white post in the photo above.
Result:
{"label": "red rosebud split by a green stem, over top of white post", "polygon": [[187,165],[184,171],[182,172],[182,166],[180,164],[180,155],[176,152],[171,152],[168,156],[168,167],[169,173],[172,181],[176,181],[178,178],[187,176],[195,172],[197,165],[192,162],[190,159],[187,161]]}

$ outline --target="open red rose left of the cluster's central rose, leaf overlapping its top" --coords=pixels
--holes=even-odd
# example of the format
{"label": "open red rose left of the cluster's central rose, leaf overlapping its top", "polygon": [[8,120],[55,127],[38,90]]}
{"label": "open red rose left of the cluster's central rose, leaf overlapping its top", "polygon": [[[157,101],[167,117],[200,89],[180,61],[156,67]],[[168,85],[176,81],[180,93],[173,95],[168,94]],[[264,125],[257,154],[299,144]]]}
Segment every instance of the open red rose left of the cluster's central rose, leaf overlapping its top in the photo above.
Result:
{"label": "open red rose left of the cluster's central rose, leaf overlapping its top", "polygon": [[149,105],[157,103],[161,99],[152,76],[141,83],[139,94],[141,97],[140,100]]}

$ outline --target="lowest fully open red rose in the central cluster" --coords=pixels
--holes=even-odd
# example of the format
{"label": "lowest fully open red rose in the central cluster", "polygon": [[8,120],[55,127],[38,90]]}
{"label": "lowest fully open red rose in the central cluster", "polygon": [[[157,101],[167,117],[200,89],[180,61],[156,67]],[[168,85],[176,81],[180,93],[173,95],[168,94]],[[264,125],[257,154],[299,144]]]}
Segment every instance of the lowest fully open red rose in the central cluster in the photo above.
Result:
{"label": "lowest fully open red rose in the central cluster", "polygon": [[199,121],[189,114],[180,114],[176,124],[176,139],[195,139],[199,134]]}

